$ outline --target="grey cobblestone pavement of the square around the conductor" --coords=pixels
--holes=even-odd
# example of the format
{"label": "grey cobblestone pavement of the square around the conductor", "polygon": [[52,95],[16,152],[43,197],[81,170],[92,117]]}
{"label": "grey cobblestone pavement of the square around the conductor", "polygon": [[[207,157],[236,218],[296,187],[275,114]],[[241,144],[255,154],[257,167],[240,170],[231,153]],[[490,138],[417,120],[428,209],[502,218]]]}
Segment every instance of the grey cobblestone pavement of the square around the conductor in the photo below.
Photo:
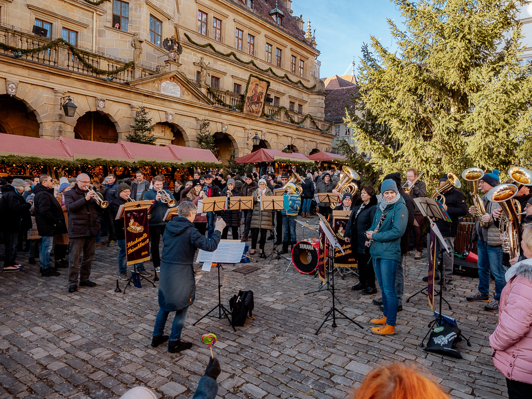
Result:
{"label": "grey cobblestone pavement of the square around the conductor", "polygon": [[[315,219],[314,219],[315,220]],[[306,230],[306,237],[309,237]],[[311,237],[316,234],[312,232]],[[302,238],[298,227],[298,237]],[[267,242],[272,251],[272,241]],[[397,334],[370,334],[368,321],[379,316],[371,300],[350,290],[353,276],[336,277],[338,309],[361,324],[333,329],[318,328],[330,309],[327,292],[303,295],[319,288],[319,279],[299,273],[289,262],[255,260],[256,270],[247,275],[229,265],[221,271],[222,301],[239,289],[252,289],[253,319],[233,332],[227,320],[203,319],[192,323],[217,303],[217,273],[197,268],[196,302],[190,307],[182,338],[194,346],[178,354],[165,345],[149,346],[155,321],[157,290],[143,284],[125,295],[115,293],[118,246],[96,250],[91,279],[94,288],[79,287],[69,294],[66,270],[61,276],[41,278],[39,265],[19,260],[20,272],[0,276],[0,399],[17,398],[108,398],[144,385],[160,397],[192,396],[210,356],[201,344],[205,332],[214,332],[213,348],[222,364],[218,396],[232,398],[344,398],[353,386],[379,364],[403,362],[431,373],[455,398],[506,397],[505,380],[494,367],[488,337],[497,314],[483,310],[485,303],[468,303],[465,296],[476,292],[477,280],[455,276],[445,297],[472,347],[458,344],[463,360],[424,352],[418,345],[427,331],[431,311],[427,298],[418,295],[403,301],[398,313]],[[147,269],[153,272],[151,263]],[[406,261],[405,297],[422,288],[425,266]],[[124,284],[121,281],[121,287]],[[492,292],[494,290],[492,282]],[[453,296],[451,296],[451,294]],[[342,320],[339,322],[344,324]],[[167,330],[171,320],[167,323]]]}

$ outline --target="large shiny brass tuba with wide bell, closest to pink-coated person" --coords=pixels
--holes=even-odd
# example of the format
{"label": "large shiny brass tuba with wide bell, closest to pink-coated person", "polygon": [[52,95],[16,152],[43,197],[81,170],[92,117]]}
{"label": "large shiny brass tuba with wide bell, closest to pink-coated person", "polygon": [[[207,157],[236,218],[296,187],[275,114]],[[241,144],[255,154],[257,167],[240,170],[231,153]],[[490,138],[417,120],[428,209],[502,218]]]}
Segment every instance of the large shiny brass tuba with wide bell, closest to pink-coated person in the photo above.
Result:
{"label": "large shiny brass tuba with wide bell, closest to pink-coated person", "polygon": [[502,250],[510,254],[510,259],[519,255],[519,243],[521,241],[519,215],[512,199],[518,191],[519,188],[514,184],[501,184],[493,187],[487,194],[489,201],[501,204],[502,213],[499,229],[502,233]]}

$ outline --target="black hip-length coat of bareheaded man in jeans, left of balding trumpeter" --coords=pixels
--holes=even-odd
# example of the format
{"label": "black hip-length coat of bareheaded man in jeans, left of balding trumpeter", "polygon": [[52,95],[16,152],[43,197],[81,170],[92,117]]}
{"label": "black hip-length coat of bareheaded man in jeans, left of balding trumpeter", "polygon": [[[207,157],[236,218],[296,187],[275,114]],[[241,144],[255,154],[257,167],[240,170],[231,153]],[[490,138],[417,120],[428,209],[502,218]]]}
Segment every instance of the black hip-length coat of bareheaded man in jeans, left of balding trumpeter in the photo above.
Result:
{"label": "black hip-length coat of bareheaded man in jeans, left of balding trumpeter", "polygon": [[34,188],[34,214],[39,236],[65,234],[66,223],[61,205],[54,197],[54,189],[38,183]]}

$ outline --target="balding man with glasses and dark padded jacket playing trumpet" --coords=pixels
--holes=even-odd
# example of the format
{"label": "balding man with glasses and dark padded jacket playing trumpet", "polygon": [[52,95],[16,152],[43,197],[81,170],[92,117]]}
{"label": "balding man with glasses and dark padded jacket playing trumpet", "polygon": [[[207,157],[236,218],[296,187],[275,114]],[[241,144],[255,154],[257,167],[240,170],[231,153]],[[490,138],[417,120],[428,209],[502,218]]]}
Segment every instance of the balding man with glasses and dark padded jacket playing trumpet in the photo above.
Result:
{"label": "balding man with glasses and dark padded jacket playing trumpet", "polygon": [[[65,193],[65,206],[68,211],[68,236],[70,238],[69,253],[69,288],[73,293],[79,285],[94,287],[90,281],[90,267],[96,247],[96,236],[100,232],[98,219],[98,204],[94,200],[96,193],[89,190],[90,178],[88,174],[78,174],[76,186]],[[78,270],[79,257],[83,251],[83,263]]]}

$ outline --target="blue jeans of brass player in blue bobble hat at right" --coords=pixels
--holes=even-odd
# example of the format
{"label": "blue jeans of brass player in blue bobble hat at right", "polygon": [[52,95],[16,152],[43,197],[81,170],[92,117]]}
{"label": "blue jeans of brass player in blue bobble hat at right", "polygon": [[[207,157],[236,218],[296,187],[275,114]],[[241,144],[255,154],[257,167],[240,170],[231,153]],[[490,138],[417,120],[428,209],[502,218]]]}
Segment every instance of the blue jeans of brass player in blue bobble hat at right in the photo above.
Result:
{"label": "blue jeans of brass player in blue bobble hat at right", "polygon": [[478,248],[478,292],[489,295],[489,272],[495,277],[495,296],[493,299],[499,301],[501,292],[506,285],[504,278],[504,266],[502,265],[502,246],[492,247],[488,243],[477,240]]}

